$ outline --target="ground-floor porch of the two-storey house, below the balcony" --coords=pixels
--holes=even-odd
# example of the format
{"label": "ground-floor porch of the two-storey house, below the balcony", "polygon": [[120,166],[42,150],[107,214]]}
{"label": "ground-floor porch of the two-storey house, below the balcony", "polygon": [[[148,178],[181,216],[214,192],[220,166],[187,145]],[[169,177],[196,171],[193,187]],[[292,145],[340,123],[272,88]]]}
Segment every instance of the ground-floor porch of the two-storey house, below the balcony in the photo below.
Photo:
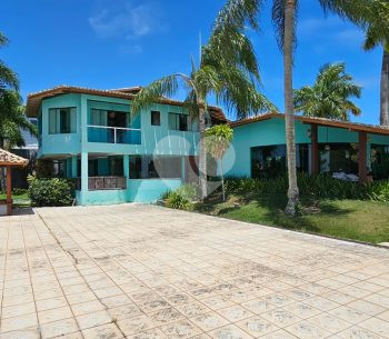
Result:
{"label": "ground-floor porch of the two-storey house, below the balcony", "polygon": [[81,153],[54,160],[54,175],[74,180],[78,205],[152,202],[196,177],[191,156]]}

